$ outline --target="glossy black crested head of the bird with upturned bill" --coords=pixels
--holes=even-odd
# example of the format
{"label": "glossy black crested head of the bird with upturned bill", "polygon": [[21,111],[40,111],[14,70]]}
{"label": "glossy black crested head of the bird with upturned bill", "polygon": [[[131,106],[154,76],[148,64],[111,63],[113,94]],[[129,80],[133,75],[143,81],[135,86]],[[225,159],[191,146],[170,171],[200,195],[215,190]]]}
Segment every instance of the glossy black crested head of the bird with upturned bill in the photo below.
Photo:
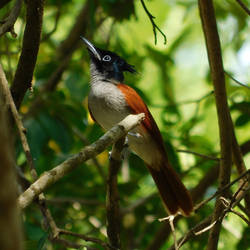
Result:
{"label": "glossy black crested head of the bird with upturned bill", "polygon": [[84,37],[81,37],[81,39],[87,46],[91,61],[95,65],[96,70],[99,74],[102,74],[105,79],[114,79],[121,82],[124,79],[124,71],[128,71],[130,73],[136,72],[134,66],[128,64],[117,54],[95,47]]}

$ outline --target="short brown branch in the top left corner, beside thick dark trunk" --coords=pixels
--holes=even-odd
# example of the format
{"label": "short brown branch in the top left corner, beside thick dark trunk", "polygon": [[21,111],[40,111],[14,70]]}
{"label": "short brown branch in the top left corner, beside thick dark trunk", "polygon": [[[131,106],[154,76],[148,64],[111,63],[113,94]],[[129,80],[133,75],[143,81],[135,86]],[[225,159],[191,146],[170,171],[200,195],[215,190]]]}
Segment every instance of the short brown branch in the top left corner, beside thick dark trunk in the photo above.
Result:
{"label": "short brown branch in the top left corner, beside thick dark trunk", "polygon": [[22,0],[16,0],[16,3],[12,8],[9,16],[3,21],[3,24],[0,26],[0,36],[4,35],[6,32],[11,32],[12,36],[16,37],[14,24],[19,16],[22,2]]}

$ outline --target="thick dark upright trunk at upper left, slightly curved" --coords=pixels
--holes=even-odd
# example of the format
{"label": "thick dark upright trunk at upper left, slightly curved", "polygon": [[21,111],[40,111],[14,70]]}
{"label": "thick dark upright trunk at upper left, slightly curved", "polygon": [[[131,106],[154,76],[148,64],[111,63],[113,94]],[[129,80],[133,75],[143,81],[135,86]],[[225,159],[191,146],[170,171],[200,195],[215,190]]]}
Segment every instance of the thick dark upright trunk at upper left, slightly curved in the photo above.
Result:
{"label": "thick dark upright trunk at upper left, slightly curved", "polygon": [[11,93],[17,109],[30,88],[36,65],[42,30],[44,0],[27,0],[26,26],[21,56],[18,61]]}

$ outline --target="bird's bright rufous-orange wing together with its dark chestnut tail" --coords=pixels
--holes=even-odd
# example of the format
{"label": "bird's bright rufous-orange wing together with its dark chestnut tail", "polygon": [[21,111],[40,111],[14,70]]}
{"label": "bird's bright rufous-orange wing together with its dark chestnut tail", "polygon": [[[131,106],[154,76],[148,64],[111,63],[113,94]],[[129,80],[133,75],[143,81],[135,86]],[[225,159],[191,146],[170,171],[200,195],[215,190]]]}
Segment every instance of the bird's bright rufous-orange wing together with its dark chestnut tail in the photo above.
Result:
{"label": "bird's bright rufous-orange wing together with its dark chestnut tail", "polygon": [[118,84],[117,87],[123,93],[132,113],[145,114],[145,119],[141,126],[151,135],[162,154],[160,165],[157,163],[158,165],[155,166],[153,163],[151,165],[147,164],[147,167],[158,187],[167,212],[176,214],[180,211],[186,216],[190,215],[193,210],[192,199],[168,161],[163,139],[153,116],[134,89],[125,84]]}

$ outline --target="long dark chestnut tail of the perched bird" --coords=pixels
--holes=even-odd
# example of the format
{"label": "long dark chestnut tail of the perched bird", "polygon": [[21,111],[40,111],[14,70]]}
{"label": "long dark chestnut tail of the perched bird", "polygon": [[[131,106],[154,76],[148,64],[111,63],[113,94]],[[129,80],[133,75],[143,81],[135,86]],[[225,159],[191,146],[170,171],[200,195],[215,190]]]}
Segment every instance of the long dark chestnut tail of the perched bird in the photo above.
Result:
{"label": "long dark chestnut tail of the perched bird", "polygon": [[169,163],[160,168],[147,166],[169,214],[180,211],[188,216],[193,210],[193,202],[188,190]]}

